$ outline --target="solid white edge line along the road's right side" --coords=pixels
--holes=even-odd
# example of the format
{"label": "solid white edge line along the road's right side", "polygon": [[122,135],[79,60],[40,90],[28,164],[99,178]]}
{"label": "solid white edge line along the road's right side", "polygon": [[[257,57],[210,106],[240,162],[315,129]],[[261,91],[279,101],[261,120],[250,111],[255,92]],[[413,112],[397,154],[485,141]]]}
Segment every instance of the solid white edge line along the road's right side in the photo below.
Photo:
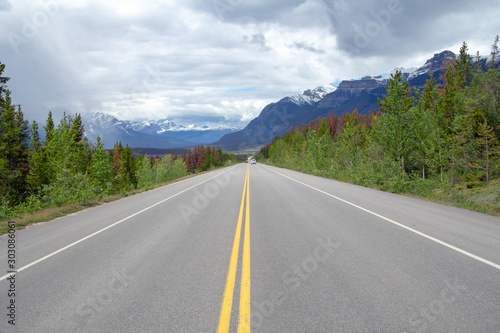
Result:
{"label": "solid white edge line along the road's right side", "polygon": [[468,256],[468,257],[470,257],[470,258],[476,259],[476,260],[478,260],[478,261],[480,261],[480,262],[482,262],[482,263],[485,263],[486,265],[489,265],[489,266],[494,267],[494,268],[496,268],[496,269],[500,269],[500,265],[499,265],[499,264],[495,264],[495,263],[494,263],[494,262],[492,262],[492,261],[489,261],[489,260],[484,259],[484,258],[482,258],[482,257],[479,257],[479,256],[477,256],[477,255],[475,255],[475,254],[472,254],[472,253],[470,253],[470,252],[467,252],[467,251],[465,251],[465,250],[462,250],[461,248],[458,248],[458,247],[456,247],[456,246],[454,246],[454,245],[451,245],[451,244],[449,244],[449,243],[443,242],[442,240],[439,240],[439,239],[437,239],[437,238],[434,238],[434,237],[432,237],[432,236],[429,236],[429,235],[427,235],[427,234],[424,234],[423,232],[420,232],[420,231],[415,230],[415,229],[413,229],[413,228],[410,228],[410,227],[408,227],[408,226],[406,226],[406,225],[404,225],[404,224],[401,224],[401,223],[399,223],[399,222],[396,222],[396,221],[394,221],[394,220],[391,220],[390,218],[387,218],[387,217],[385,217],[385,216],[382,216],[382,215],[380,215],[380,214],[377,214],[377,213],[375,213],[375,212],[372,212],[371,210],[366,209],[366,208],[363,208],[363,207],[361,207],[361,206],[358,206],[358,205],[356,205],[356,204],[354,204],[354,203],[352,203],[352,202],[350,202],[350,201],[344,200],[344,199],[339,198],[339,197],[337,197],[337,196],[335,196],[335,195],[333,195],[333,194],[330,194],[330,193],[328,193],[328,192],[325,192],[325,191],[322,191],[322,190],[320,190],[320,189],[317,189],[316,187],[313,187],[313,186],[311,186],[311,185],[305,184],[305,183],[303,183],[303,182],[301,182],[301,181],[298,181],[298,180],[296,180],[296,179],[293,179],[293,178],[291,178],[291,177],[288,177],[288,176],[286,176],[286,175],[284,175],[284,174],[282,174],[282,173],[280,173],[280,172],[277,172],[277,171],[272,170],[272,169],[269,169],[269,170],[270,170],[270,171],[272,171],[272,172],[274,172],[274,173],[277,173],[278,175],[281,175],[281,176],[283,176],[283,177],[285,177],[285,178],[288,178],[288,179],[290,179],[290,180],[293,180],[294,182],[297,182],[297,183],[299,183],[299,184],[301,184],[301,185],[307,186],[307,187],[309,187],[309,188],[311,188],[311,189],[313,189],[313,190],[316,190],[316,191],[318,191],[318,192],[320,192],[320,193],[326,194],[326,195],[328,195],[328,196],[330,196],[330,197],[332,197],[332,198],[334,198],[334,199],[337,199],[337,200],[342,201],[342,202],[344,202],[344,203],[346,203],[346,204],[348,204],[348,205],[351,205],[351,206],[356,207],[356,208],[358,208],[358,209],[360,209],[360,210],[362,210],[362,211],[365,211],[365,212],[367,212],[367,213],[369,213],[369,214],[372,214],[372,215],[374,215],[374,216],[376,216],[376,217],[378,217],[378,218],[381,218],[381,219],[383,219],[383,220],[386,220],[387,222],[390,222],[390,223],[392,223],[392,224],[395,224],[395,225],[397,225],[398,227],[404,228],[404,229],[406,229],[406,230],[408,230],[408,231],[411,231],[411,232],[413,232],[413,233],[415,233],[415,234],[417,234],[417,235],[420,235],[420,236],[422,236],[422,237],[425,237],[425,238],[427,238],[427,239],[429,239],[429,240],[431,240],[431,241],[433,241],[433,242],[436,242],[436,243],[441,244],[441,245],[443,245],[443,246],[446,246],[447,248],[450,248],[450,249],[452,249],[452,250],[454,250],[454,251],[457,251],[457,252],[459,252],[459,253],[462,253],[462,254],[464,254],[464,255],[466,255],[466,256]]}

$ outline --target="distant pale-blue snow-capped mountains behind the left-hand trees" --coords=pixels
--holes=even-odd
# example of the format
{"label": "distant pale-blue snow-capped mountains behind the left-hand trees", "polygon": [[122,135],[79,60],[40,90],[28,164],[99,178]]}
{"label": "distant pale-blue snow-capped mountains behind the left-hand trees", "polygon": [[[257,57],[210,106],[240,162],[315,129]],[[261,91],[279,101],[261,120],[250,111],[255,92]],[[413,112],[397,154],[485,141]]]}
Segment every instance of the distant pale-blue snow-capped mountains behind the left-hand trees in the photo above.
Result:
{"label": "distant pale-blue snow-capped mountains behind the left-hand trees", "polygon": [[101,137],[104,147],[112,148],[117,141],[131,147],[177,148],[210,144],[238,130],[227,124],[178,125],[168,119],[131,121],[119,120],[102,112],[82,116],[85,136],[90,142]]}

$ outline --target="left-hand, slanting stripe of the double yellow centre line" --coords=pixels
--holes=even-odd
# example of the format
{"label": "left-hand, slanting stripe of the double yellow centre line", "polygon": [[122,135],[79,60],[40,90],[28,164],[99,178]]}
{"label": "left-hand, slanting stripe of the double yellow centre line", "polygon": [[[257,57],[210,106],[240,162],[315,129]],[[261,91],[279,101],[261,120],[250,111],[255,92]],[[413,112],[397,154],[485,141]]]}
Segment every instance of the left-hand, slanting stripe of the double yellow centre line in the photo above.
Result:
{"label": "left-hand, slanting stripe of the double yellow centre line", "polygon": [[243,210],[245,208],[245,192],[247,190],[249,166],[247,165],[247,173],[245,175],[245,184],[243,185],[243,195],[241,196],[240,213],[238,215],[238,225],[236,226],[236,235],[234,236],[233,250],[229,262],[229,270],[227,273],[226,288],[224,290],[224,299],[219,317],[218,333],[229,332],[229,323],[231,321],[231,308],[233,306],[234,284],[236,281],[236,268],[238,265],[238,252],[240,249],[241,237],[241,221],[243,220]]}

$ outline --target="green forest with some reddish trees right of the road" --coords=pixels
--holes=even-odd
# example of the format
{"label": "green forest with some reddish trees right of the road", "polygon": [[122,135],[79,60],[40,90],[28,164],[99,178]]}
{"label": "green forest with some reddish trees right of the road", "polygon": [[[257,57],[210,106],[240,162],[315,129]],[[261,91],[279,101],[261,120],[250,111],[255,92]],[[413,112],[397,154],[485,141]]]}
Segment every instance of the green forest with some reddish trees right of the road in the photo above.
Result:
{"label": "green forest with some reddish trees right of the road", "polygon": [[[442,85],[431,76],[412,90],[392,75],[380,111],[330,115],[276,138],[261,160],[393,192],[477,188],[500,176],[498,36],[488,61],[468,54],[443,64]],[[500,191],[492,193],[500,202]]]}

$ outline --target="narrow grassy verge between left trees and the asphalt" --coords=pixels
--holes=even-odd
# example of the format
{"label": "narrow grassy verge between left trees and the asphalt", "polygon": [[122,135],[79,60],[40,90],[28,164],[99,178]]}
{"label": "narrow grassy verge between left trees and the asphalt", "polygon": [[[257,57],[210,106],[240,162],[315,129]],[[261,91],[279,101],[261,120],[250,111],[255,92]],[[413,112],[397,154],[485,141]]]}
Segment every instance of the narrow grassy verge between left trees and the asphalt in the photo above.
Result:
{"label": "narrow grassy verge between left trees and the asphalt", "polygon": [[130,190],[130,191],[127,191],[124,193],[103,196],[100,199],[87,200],[87,201],[82,202],[82,203],[74,203],[74,204],[64,205],[64,206],[60,206],[60,207],[50,207],[50,208],[38,210],[38,211],[30,213],[30,214],[25,213],[25,214],[20,214],[18,216],[14,216],[12,218],[3,218],[3,219],[0,219],[0,235],[3,235],[3,234],[8,232],[8,230],[9,230],[8,222],[9,221],[15,222],[16,230],[20,230],[20,229],[24,229],[24,228],[26,228],[29,225],[34,224],[34,223],[47,222],[47,221],[56,219],[58,217],[73,214],[73,213],[76,213],[76,212],[79,212],[79,211],[82,211],[82,210],[85,210],[85,209],[88,209],[91,207],[100,206],[100,205],[108,203],[108,202],[116,201],[116,200],[131,196],[131,195],[135,195],[135,194],[150,191],[150,190],[153,190],[153,189],[156,189],[159,187],[167,186],[167,185],[177,183],[177,182],[180,182],[180,181],[188,179],[188,178],[192,178],[192,177],[195,177],[198,175],[202,175],[202,174],[205,174],[205,173],[208,173],[211,171],[215,171],[215,170],[219,170],[219,169],[223,169],[226,167],[227,166],[222,166],[222,167],[214,168],[214,169],[208,170],[208,171],[189,174],[189,175],[174,179],[172,181],[169,181],[166,184],[156,184],[154,186],[147,186],[145,188],[134,189],[134,190]]}

